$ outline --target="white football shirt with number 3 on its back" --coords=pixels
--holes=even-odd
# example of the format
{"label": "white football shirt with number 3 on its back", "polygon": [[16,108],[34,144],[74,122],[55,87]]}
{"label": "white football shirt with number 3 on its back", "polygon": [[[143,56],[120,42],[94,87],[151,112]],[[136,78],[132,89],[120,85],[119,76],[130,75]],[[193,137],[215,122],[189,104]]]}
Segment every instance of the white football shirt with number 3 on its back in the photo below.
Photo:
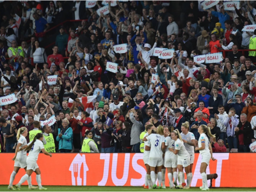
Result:
{"label": "white football shirt with number 3 on its back", "polygon": [[152,133],[149,136],[147,136],[147,140],[150,141],[151,145],[149,157],[162,157],[162,143],[164,143],[165,140],[164,136]]}

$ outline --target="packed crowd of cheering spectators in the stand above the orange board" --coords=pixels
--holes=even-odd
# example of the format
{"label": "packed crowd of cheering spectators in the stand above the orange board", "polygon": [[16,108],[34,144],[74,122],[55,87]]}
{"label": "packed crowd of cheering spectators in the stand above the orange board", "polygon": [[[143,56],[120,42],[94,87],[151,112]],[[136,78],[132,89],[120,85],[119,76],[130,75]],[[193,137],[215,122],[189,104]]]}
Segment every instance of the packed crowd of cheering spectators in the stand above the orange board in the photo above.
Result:
{"label": "packed crowd of cheering spectators in the stand above the orange board", "polygon": [[[14,152],[24,126],[28,141],[44,132],[48,152],[141,152],[145,125],[182,132],[184,122],[196,140],[200,125],[210,127],[214,152],[250,152],[256,51],[238,50],[256,49],[256,30],[242,31],[256,22],[255,1],[240,1],[234,11],[223,1],[207,10],[198,1],[179,1],[174,16],[172,1],[116,1],[98,15],[101,3],[0,3],[0,96],[17,98],[1,106],[1,152]],[[69,19],[82,21],[56,28],[47,54],[40,44],[48,30]],[[118,44],[127,44],[127,52],[116,53]],[[155,47],[175,49],[172,59],[153,56]],[[193,60],[223,50],[232,51],[220,63]],[[106,70],[108,61],[118,72]],[[54,124],[41,126],[53,115]]]}

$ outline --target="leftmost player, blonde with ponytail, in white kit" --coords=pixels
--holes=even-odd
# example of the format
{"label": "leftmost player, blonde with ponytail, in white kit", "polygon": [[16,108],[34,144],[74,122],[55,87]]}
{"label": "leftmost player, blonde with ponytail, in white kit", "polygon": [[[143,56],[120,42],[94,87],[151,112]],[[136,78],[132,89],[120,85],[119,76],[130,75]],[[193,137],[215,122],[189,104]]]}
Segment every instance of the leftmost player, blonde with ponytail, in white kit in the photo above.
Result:
{"label": "leftmost player, blonde with ponytail, in white kit", "polygon": [[[15,190],[12,186],[13,180],[15,179],[15,175],[19,172],[20,168],[27,168],[27,153],[24,148],[28,147],[26,136],[28,136],[28,129],[26,127],[20,127],[17,132],[17,141],[18,144],[15,149],[15,156],[12,158],[14,161],[14,169],[10,177],[10,184],[8,189]],[[31,184],[31,177],[28,177],[28,188],[29,189],[36,189],[37,187],[32,186]]]}

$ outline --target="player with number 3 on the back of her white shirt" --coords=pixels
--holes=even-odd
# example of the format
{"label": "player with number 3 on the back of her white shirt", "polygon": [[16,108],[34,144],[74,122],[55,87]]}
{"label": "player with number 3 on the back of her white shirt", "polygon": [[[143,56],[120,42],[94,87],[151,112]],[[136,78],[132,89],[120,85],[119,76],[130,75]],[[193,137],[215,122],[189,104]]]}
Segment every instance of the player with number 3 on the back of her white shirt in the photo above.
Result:
{"label": "player with number 3 on the back of her white shirt", "polygon": [[157,168],[157,179],[159,183],[159,188],[161,189],[162,182],[162,165],[163,165],[163,150],[162,145],[164,145],[164,131],[163,126],[159,125],[157,127],[157,133],[152,133],[149,136],[143,138],[143,141],[150,141],[150,154],[148,165],[150,166],[150,176],[153,183],[153,188],[156,189],[156,175],[155,170]]}

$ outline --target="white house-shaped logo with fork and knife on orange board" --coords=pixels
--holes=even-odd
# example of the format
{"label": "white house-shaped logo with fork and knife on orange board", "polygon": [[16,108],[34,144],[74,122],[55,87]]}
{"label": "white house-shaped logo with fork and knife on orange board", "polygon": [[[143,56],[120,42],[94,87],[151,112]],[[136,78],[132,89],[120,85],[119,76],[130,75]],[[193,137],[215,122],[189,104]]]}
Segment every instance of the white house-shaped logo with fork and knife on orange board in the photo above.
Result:
{"label": "white house-shaped logo with fork and knife on orange board", "polygon": [[86,186],[86,172],[89,169],[86,164],[85,155],[77,154],[70,164],[69,170],[71,172],[72,186]]}

